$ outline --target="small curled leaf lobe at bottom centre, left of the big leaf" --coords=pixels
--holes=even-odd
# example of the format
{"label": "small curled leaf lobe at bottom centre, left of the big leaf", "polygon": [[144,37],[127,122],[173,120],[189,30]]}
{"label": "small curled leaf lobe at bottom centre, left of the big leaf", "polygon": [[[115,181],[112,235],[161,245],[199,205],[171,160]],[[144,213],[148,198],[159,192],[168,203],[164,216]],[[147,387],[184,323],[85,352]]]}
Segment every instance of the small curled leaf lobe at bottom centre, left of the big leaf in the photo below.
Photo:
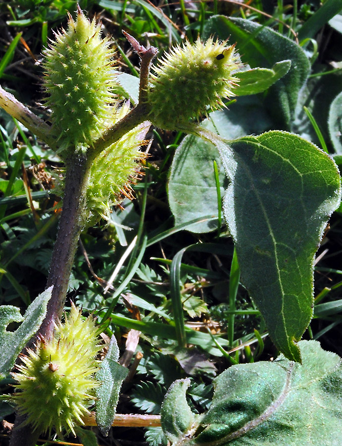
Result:
{"label": "small curled leaf lobe at bottom centre, left of the big leaf", "polygon": [[174,445],[180,445],[195,427],[198,417],[191,411],[185,392],[190,386],[189,378],[171,384],[162,404],[161,422],[164,434]]}

